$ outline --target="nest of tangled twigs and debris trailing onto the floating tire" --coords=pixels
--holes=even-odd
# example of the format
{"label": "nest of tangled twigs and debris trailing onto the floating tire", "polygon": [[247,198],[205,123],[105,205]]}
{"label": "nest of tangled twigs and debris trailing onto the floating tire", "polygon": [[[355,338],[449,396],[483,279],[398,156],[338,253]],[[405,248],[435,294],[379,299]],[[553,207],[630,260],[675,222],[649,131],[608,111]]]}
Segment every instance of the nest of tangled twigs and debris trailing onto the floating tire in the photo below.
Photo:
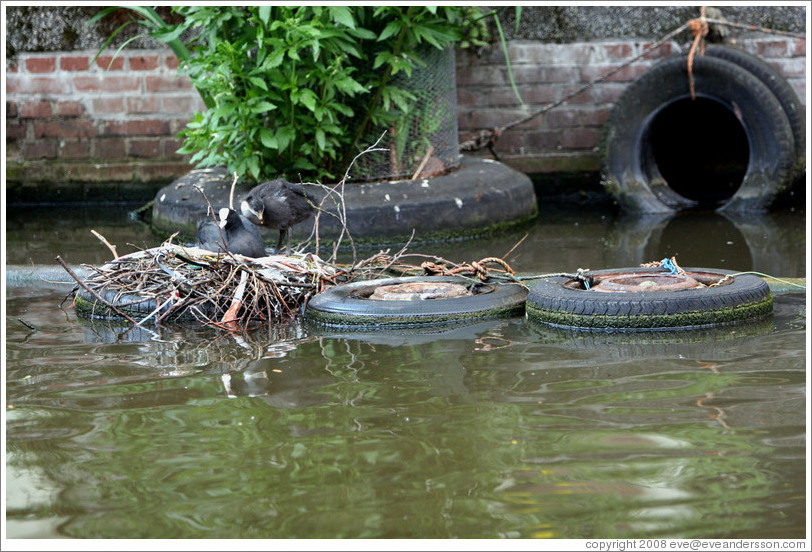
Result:
{"label": "nest of tangled twigs and debris trailing onto the floating tire", "polygon": [[[406,258],[428,258],[419,265]],[[300,315],[308,300],[327,287],[391,276],[491,277],[486,265],[512,279],[496,258],[455,264],[425,255],[381,251],[353,265],[340,265],[312,253],[253,259],[215,254],[197,247],[165,243],[116,258],[78,280],[77,310],[91,318],[121,317],[135,325],[191,321],[228,330],[245,330]]]}

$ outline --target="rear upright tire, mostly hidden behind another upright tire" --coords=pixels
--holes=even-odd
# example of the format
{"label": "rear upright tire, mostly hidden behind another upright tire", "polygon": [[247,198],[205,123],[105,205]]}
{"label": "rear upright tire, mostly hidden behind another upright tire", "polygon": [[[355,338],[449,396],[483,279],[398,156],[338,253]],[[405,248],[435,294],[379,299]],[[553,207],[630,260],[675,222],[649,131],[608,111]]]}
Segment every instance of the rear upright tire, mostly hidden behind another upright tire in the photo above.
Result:
{"label": "rear upright tire, mostly hidden behind another upright tire", "polygon": [[[686,54],[687,55],[687,54]],[[739,67],[751,72],[767,85],[775,99],[784,108],[784,113],[792,129],[795,140],[795,177],[806,169],[806,122],[804,121],[804,108],[798,94],[787,82],[787,79],[772,65],[758,56],[722,44],[711,44],[705,48],[705,55],[733,62]]]}

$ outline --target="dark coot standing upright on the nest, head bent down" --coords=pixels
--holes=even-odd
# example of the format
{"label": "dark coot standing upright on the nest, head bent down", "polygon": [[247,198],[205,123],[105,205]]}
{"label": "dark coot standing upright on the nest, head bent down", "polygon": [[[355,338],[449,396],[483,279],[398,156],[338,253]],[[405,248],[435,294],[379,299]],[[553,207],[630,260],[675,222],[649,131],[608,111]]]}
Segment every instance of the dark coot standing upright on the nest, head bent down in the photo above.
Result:
{"label": "dark coot standing upright on the nest, head bent down", "polygon": [[313,216],[313,205],[307,199],[302,187],[278,178],[264,182],[248,192],[240,205],[242,214],[254,224],[279,230],[279,252],[287,237],[285,252],[290,253],[290,234],[294,224]]}

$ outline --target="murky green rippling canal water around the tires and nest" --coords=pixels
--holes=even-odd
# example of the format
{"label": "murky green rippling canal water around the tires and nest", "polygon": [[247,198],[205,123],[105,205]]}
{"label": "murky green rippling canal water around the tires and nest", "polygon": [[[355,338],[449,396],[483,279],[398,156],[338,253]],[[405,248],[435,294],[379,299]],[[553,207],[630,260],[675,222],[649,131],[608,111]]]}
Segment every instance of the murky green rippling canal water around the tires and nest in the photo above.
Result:
{"label": "murky green rippling canal water around the tires and nest", "polygon": [[[131,208],[10,209],[6,262],[102,264],[91,228],[119,253],[159,245]],[[523,274],[674,255],[803,277],[805,229],[794,211],[553,205],[525,228],[409,251],[505,256]],[[805,536],[803,293],[699,331],[518,317],[124,336],[65,293],[6,289],[8,538]]]}

